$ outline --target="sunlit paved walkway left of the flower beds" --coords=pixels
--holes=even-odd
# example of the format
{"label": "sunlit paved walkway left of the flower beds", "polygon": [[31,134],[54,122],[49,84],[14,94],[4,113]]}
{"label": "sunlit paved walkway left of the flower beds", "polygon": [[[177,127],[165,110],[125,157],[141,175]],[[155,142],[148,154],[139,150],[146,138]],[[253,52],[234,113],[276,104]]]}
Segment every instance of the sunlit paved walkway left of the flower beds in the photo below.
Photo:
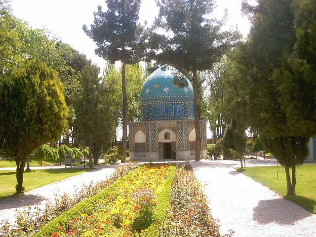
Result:
{"label": "sunlit paved walkway left of the flower beds", "polygon": [[73,195],[76,189],[82,185],[107,179],[115,169],[116,165],[98,166],[93,170],[31,190],[25,193],[24,196],[0,200],[0,223],[7,219],[11,224],[14,224],[16,209],[23,210],[24,206],[35,207],[37,200],[39,201],[39,207],[42,209],[48,200],[54,200],[56,193],[59,195],[63,193]]}

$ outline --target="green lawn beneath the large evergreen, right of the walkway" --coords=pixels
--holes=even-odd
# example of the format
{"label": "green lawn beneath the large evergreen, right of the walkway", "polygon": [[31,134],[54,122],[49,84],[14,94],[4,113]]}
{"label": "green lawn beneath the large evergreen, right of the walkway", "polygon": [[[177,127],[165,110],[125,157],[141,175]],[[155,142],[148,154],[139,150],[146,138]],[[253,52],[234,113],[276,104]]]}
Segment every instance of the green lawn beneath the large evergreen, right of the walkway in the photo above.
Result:
{"label": "green lawn beneath the large evergreen, right of the walkway", "polygon": [[316,164],[306,164],[296,169],[295,196],[286,195],[286,179],[283,166],[279,166],[278,179],[276,179],[276,166],[246,167],[245,170],[237,169],[237,171],[275,191],[281,197],[291,200],[316,214]]}

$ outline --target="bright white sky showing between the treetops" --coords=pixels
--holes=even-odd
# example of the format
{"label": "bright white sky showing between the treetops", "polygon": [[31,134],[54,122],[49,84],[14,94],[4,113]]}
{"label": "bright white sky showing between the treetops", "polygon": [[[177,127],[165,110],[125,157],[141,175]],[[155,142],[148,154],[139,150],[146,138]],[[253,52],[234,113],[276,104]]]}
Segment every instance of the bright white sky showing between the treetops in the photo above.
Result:
{"label": "bright white sky showing between the treetops", "polygon": [[[12,0],[11,4],[13,14],[28,22],[29,26],[46,28],[63,42],[85,54],[101,69],[104,68],[105,61],[94,54],[96,45],[85,35],[82,26],[93,23],[93,12],[97,10],[98,5],[106,9],[105,0]],[[216,5],[213,14],[218,19],[223,17],[225,9],[228,11],[227,23],[223,30],[237,27],[243,37],[246,37],[250,24],[247,17],[242,16],[240,12],[241,0],[216,0]],[[151,25],[157,15],[155,0],[143,0],[139,13],[140,22],[147,21]],[[209,130],[207,137],[211,137]]]}

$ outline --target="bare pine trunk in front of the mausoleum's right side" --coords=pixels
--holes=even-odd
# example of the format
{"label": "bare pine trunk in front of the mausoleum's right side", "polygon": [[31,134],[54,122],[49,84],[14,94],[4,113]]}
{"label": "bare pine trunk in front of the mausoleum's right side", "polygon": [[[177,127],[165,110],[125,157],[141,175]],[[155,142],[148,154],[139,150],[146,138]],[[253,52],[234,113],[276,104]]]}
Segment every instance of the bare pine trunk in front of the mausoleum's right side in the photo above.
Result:
{"label": "bare pine trunk in front of the mausoleum's right side", "polygon": [[198,108],[198,86],[197,86],[197,70],[192,71],[193,73],[193,92],[194,92],[194,125],[196,128],[196,161],[200,160],[200,150],[201,150],[201,133],[199,127],[199,108]]}

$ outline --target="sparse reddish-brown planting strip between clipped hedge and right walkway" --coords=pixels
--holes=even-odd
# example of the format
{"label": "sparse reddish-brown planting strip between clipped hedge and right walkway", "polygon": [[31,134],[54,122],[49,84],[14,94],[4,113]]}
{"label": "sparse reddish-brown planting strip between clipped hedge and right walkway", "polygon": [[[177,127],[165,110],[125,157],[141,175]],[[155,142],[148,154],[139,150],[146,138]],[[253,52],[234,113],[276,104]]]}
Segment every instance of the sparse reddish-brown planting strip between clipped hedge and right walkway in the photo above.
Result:
{"label": "sparse reddish-brown planting strip between clipped hedge and right walkway", "polygon": [[[234,232],[225,235],[229,237]],[[171,190],[171,207],[159,237],[220,237],[206,197],[191,166],[179,167]]]}

